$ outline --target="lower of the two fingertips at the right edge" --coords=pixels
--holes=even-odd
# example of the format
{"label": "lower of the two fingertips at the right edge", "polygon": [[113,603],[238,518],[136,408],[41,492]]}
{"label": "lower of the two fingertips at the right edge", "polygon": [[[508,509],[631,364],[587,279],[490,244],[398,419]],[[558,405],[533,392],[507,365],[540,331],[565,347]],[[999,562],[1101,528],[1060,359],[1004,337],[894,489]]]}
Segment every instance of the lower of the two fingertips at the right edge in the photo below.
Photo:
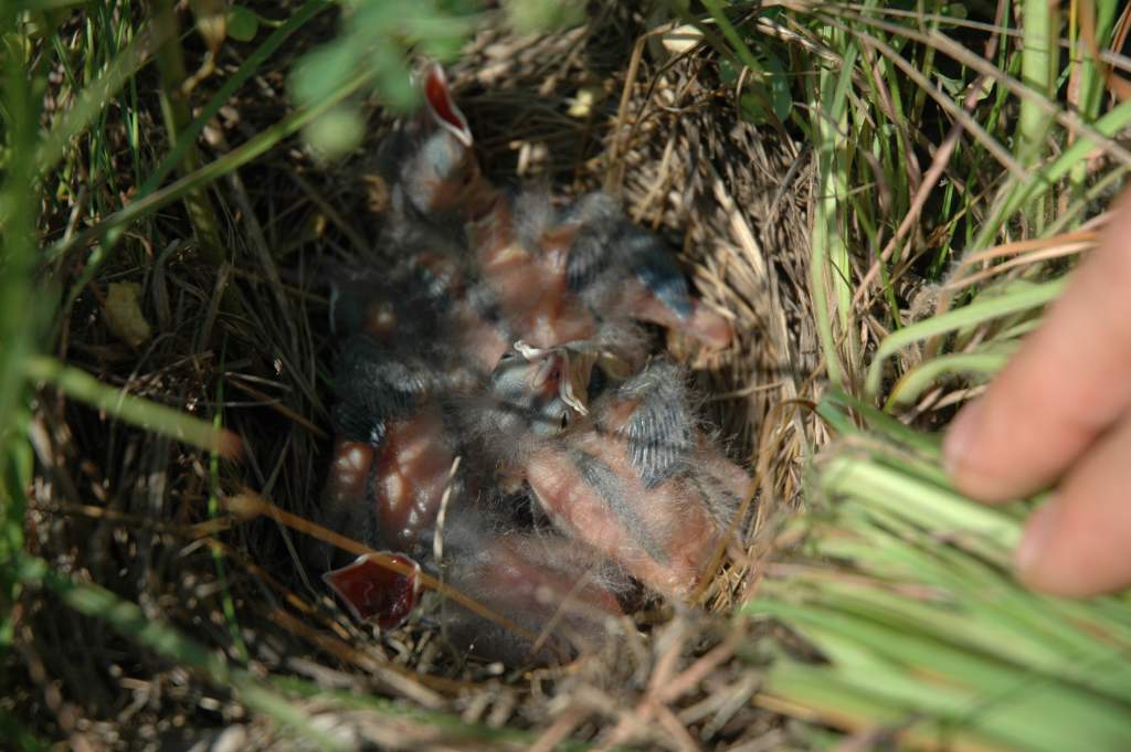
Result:
{"label": "lower of the two fingertips at the right edge", "polygon": [[1029,520],[1017,551],[1021,579],[1055,595],[1131,585],[1131,420],[1094,444]]}

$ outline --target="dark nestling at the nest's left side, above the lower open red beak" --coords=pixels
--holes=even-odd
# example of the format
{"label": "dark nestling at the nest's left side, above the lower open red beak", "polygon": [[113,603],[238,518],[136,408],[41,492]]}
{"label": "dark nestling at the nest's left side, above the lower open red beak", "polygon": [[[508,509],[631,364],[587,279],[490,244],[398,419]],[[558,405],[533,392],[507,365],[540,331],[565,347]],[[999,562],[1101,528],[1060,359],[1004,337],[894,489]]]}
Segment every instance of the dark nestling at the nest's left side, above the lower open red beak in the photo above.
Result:
{"label": "dark nestling at the nest's left side, above the lower open red beak", "polygon": [[[443,493],[459,491],[459,478],[449,477],[459,440],[446,401],[482,377],[444,345],[444,312],[437,311],[429,280],[391,277],[355,275],[335,287],[335,328],[343,337],[337,443],[321,511],[328,527],[373,548],[414,554]],[[321,554],[327,567],[336,561],[333,551]]]}

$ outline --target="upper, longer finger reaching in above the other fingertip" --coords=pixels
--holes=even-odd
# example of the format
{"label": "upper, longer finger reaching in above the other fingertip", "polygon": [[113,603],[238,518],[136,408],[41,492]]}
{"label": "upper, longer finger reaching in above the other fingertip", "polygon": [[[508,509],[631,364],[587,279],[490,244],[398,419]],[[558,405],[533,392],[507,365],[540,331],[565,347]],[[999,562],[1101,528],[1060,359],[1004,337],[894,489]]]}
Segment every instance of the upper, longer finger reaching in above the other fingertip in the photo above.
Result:
{"label": "upper, longer finger reaching in above the other fingertip", "polygon": [[957,486],[1004,501],[1055,481],[1131,405],[1131,191],[1042,326],[947,436]]}

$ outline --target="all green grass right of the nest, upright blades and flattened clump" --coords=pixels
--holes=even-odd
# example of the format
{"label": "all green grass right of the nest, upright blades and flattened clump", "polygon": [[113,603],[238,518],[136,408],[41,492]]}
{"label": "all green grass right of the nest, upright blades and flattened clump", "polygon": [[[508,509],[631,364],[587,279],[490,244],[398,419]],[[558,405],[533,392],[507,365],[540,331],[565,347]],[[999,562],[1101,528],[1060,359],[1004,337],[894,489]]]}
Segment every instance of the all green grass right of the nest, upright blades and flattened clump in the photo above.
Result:
{"label": "all green grass right of the nest, upright blades and flattened clump", "polygon": [[938,430],[988,381],[1063,288],[1062,259],[1095,244],[1083,222],[1131,165],[1113,140],[1131,103],[1105,87],[1128,62],[1108,49],[1119,3],[996,19],[785,5],[778,28],[820,53],[797,124],[818,155],[812,293],[840,390],[819,407],[834,440],[810,509],[778,537],[792,554],[743,608],[819,658],[783,641],[759,701],[851,749],[1131,749],[1131,598],[1020,586],[1036,502],[961,496],[939,434],[910,427]]}

